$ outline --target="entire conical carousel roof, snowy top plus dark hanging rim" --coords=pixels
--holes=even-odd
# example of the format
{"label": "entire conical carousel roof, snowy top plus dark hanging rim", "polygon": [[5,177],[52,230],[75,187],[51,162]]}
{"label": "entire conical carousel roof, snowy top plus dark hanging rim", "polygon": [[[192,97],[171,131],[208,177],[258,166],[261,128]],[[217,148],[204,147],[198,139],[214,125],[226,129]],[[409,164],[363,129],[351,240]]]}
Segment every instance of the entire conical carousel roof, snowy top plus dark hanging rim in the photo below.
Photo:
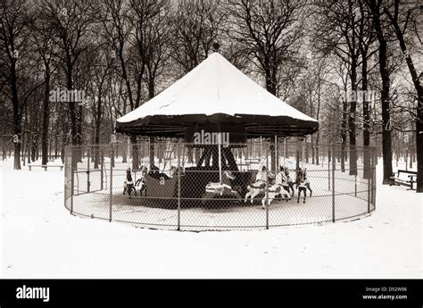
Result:
{"label": "entire conical carousel roof, snowy top plus dark hanging rim", "polygon": [[[244,126],[249,135],[306,135],[318,121],[273,96],[219,53],[116,121],[118,132],[178,136],[189,126]],[[255,131],[255,133],[254,133]]]}

